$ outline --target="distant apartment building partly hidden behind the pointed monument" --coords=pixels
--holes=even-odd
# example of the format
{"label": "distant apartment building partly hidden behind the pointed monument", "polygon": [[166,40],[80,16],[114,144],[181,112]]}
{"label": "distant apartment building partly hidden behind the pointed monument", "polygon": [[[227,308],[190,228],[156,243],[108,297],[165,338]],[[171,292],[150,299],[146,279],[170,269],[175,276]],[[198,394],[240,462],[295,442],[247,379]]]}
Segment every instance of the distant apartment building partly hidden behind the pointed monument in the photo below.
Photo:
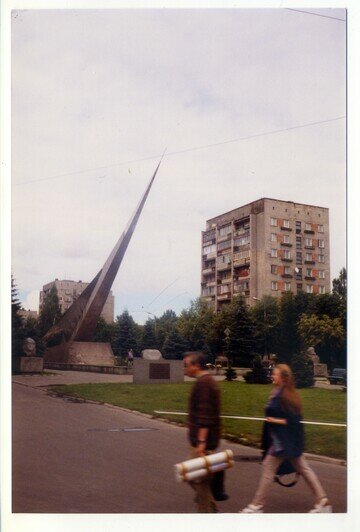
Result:
{"label": "distant apartment building partly hidden behind the pointed monument", "polygon": [[[45,297],[54,285],[56,286],[58,293],[61,312],[64,313],[85,290],[88,284],[89,283],[84,283],[83,281],[69,281],[66,279],[62,281],[55,279],[55,281],[45,284],[40,292],[39,310],[41,311]],[[111,291],[101,312],[101,317],[104,318],[107,323],[112,323],[114,321],[114,296]]]}

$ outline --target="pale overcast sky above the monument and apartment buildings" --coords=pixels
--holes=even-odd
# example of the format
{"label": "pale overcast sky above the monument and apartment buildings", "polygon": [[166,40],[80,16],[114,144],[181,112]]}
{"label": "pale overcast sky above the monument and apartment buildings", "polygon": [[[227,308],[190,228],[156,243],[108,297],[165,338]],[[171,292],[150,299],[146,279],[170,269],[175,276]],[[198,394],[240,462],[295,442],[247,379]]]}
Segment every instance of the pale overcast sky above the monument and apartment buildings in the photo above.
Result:
{"label": "pale overcast sky above the monument and apartment buildings", "polygon": [[307,11],[324,16],[13,12],[12,270],[25,308],[37,309],[55,278],[95,276],[165,147],[113,284],[116,314],[127,308],[143,323],[145,310],[187,307],[200,294],[206,220],[261,197],[330,209],[338,275],[346,14]]}

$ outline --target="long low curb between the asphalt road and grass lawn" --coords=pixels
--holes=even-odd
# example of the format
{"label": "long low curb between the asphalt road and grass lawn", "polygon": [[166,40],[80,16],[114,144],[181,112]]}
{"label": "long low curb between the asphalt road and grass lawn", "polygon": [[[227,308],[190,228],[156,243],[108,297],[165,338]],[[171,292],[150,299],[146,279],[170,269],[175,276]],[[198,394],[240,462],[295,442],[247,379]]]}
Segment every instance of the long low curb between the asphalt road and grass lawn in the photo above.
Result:
{"label": "long low curb between the asphalt road and grass lawn", "polygon": [[[22,386],[29,386],[28,384],[23,384],[23,383],[16,383],[16,384],[21,384]],[[38,388],[38,386],[29,386],[29,387],[30,388]],[[51,391],[51,390],[48,390],[48,391]],[[65,393],[55,392],[55,391],[52,391],[51,393],[52,393],[53,396],[69,397],[69,398],[74,399],[73,395],[67,395]],[[138,410],[131,410],[129,408],[124,408],[123,406],[112,405],[111,403],[103,403],[101,401],[93,401],[92,399],[82,399],[82,398],[76,398],[76,397],[75,397],[75,399],[79,399],[79,402],[81,402],[81,403],[102,405],[102,406],[106,406],[107,408],[112,408],[112,409],[115,409],[115,410],[121,410],[121,411],[127,412],[129,414],[136,414],[138,416],[145,417],[147,419],[156,419],[158,421],[162,421],[163,423],[168,423],[170,425],[175,425],[177,427],[183,427],[184,426],[184,423],[178,423],[176,421],[171,421],[169,419],[164,419],[164,418],[162,418],[160,416],[156,416],[156,415],[152,415],[152,414],[146,414],[145,412],[139,412]],[[223,439],[226,440],[226,441],[229,441],[231,443],[236,443],[238,445],[243,445],[244,447],[250,447],[251,449],[259,450],[258,447],[255,447],[255,446],[252,446],[252,445],[245,445],[243,442],[240,441],[241,438],[238,438],[237,436],[234,437],[231,434],[224,434]],[[304,456],[308,460],[314,460],[316,462],[322,462],[322,463],[325,463],[325,464],[333,464],[333,465],[340,465],[340,466],[346,466],[347,465],[346,460],[343,460],[341,458],[331,458],[330,456],[322,456],[322,455],[319,455],[319,454],[312,454],[312,453],[304,453]]]}

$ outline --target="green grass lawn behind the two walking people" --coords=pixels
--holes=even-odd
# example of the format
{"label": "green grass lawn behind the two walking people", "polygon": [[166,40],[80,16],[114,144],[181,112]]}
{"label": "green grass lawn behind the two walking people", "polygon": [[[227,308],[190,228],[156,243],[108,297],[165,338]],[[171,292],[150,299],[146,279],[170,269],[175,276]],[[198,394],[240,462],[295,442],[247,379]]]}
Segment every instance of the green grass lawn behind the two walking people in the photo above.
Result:
{"label": "green grass lawn behind the two walking people", "polygon": [[[59,393],[110,403],[147,414],[155,410],[186,412],[192,383],[182,384],[76,384],[51,386]],[[244,382],[219,382],[222,414],[262,417],[272,385]],[[299,390],[303,400],[304,420],[346,422],[346,393],[341,390],[305,388]],[[185,423],[185,416],[157,415]],[[346,428],[305,425],[306,451],[346,459]],[[260,421],[223,419],[223,433],[234,441],[259,446]]]}

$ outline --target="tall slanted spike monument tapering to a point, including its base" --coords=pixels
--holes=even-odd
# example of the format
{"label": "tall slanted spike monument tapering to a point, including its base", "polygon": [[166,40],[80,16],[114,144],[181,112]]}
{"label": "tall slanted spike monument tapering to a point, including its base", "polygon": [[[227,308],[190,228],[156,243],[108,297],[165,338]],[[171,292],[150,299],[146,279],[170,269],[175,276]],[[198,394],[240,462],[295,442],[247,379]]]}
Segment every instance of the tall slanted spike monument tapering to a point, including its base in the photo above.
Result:
{"label": "tall slanted spike monument tapering to a point, including its base", "polygon": [[84,292],[44,336],[44,362],[64,364],[114,365],[109,343],[92,342],[92,337],[111,286],[140,218],[161,160],[125,231],[120,236],[103,268]]}

